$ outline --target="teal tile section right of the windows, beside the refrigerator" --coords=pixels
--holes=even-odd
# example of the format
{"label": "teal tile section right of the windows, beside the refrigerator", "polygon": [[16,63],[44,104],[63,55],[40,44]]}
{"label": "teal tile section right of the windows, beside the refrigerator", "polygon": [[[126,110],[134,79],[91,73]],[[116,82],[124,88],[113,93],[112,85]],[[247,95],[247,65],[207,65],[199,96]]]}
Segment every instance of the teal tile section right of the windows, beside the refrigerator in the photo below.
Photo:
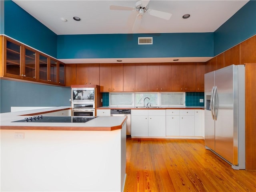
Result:
{"label": "teal tile section right of the windows, beside the refrigerator", "polygon": [[204,102],[200,103],[199,99],[204,99],[204,92],[186,92],[186,106],[204,106]]}

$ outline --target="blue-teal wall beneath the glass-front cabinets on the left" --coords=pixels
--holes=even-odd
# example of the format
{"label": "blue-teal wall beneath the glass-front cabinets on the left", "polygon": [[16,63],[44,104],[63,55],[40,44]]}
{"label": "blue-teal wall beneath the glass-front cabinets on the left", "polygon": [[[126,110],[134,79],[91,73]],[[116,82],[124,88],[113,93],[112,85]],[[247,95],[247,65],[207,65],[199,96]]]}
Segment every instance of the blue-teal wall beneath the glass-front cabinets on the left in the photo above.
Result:
{"label": "blue-teal wall beneath the glass-front cabinets on the left", "polygon": [[70,87],[58,87],[27,82],[0,80],[0,112],[10,112],[11,107],[71,106]]}

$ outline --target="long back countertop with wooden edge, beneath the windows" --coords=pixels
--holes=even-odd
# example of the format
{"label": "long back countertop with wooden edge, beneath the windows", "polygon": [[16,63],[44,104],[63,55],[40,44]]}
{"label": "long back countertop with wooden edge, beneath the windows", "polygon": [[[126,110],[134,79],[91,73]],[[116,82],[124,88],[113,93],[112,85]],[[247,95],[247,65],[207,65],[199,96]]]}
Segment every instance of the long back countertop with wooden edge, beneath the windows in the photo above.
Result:
{"label": "long back countertop with wooden edge, beneath the windows", "polygon": [[160,107],[142,107],[142,106],[103,106],[103,107],[99,107],[97,109],[204,109],[203,106],[179,106],[179,107],[172,107],[172,106],[160,106]]}

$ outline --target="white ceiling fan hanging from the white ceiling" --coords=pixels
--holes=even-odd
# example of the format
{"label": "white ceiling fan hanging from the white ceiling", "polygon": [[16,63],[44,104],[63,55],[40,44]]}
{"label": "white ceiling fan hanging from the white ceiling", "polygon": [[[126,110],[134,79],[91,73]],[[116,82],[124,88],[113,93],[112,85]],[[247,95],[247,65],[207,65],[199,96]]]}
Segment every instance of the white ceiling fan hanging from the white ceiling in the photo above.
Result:
{"label": "white ceiling fan hanging from the white ceiling", "polygon": [[158,18],[162,18],[165,20],[169,20],[171,18],[171,16],[172,16],[171,13],[149,9],[148,8],[149,2],[150,2],[150,0],[140,0],[140,1],[136,2],[135,7],[110,5],[110,10],[137,11],[138,15],[136,16],[136,19],[134,21],[134,24],[132,27],[132,32],[138,31],[138,29],[140,27],[141,20],[142,20],[142,16],[144,15],[145,12],[149,15],[152,15],[152,16],[155,16]]}

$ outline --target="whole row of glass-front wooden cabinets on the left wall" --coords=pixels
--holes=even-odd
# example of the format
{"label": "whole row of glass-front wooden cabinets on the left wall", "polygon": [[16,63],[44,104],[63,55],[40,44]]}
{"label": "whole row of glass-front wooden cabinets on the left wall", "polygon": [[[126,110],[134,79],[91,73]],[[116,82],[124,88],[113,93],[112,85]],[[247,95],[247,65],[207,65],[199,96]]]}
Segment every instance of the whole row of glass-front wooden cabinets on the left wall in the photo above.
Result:
{"label": "whole row of glass-front wooden cabinets on the left wall", "polygon": [[65,64],[5,36],[0,40],[1,76],[65,86]]}

